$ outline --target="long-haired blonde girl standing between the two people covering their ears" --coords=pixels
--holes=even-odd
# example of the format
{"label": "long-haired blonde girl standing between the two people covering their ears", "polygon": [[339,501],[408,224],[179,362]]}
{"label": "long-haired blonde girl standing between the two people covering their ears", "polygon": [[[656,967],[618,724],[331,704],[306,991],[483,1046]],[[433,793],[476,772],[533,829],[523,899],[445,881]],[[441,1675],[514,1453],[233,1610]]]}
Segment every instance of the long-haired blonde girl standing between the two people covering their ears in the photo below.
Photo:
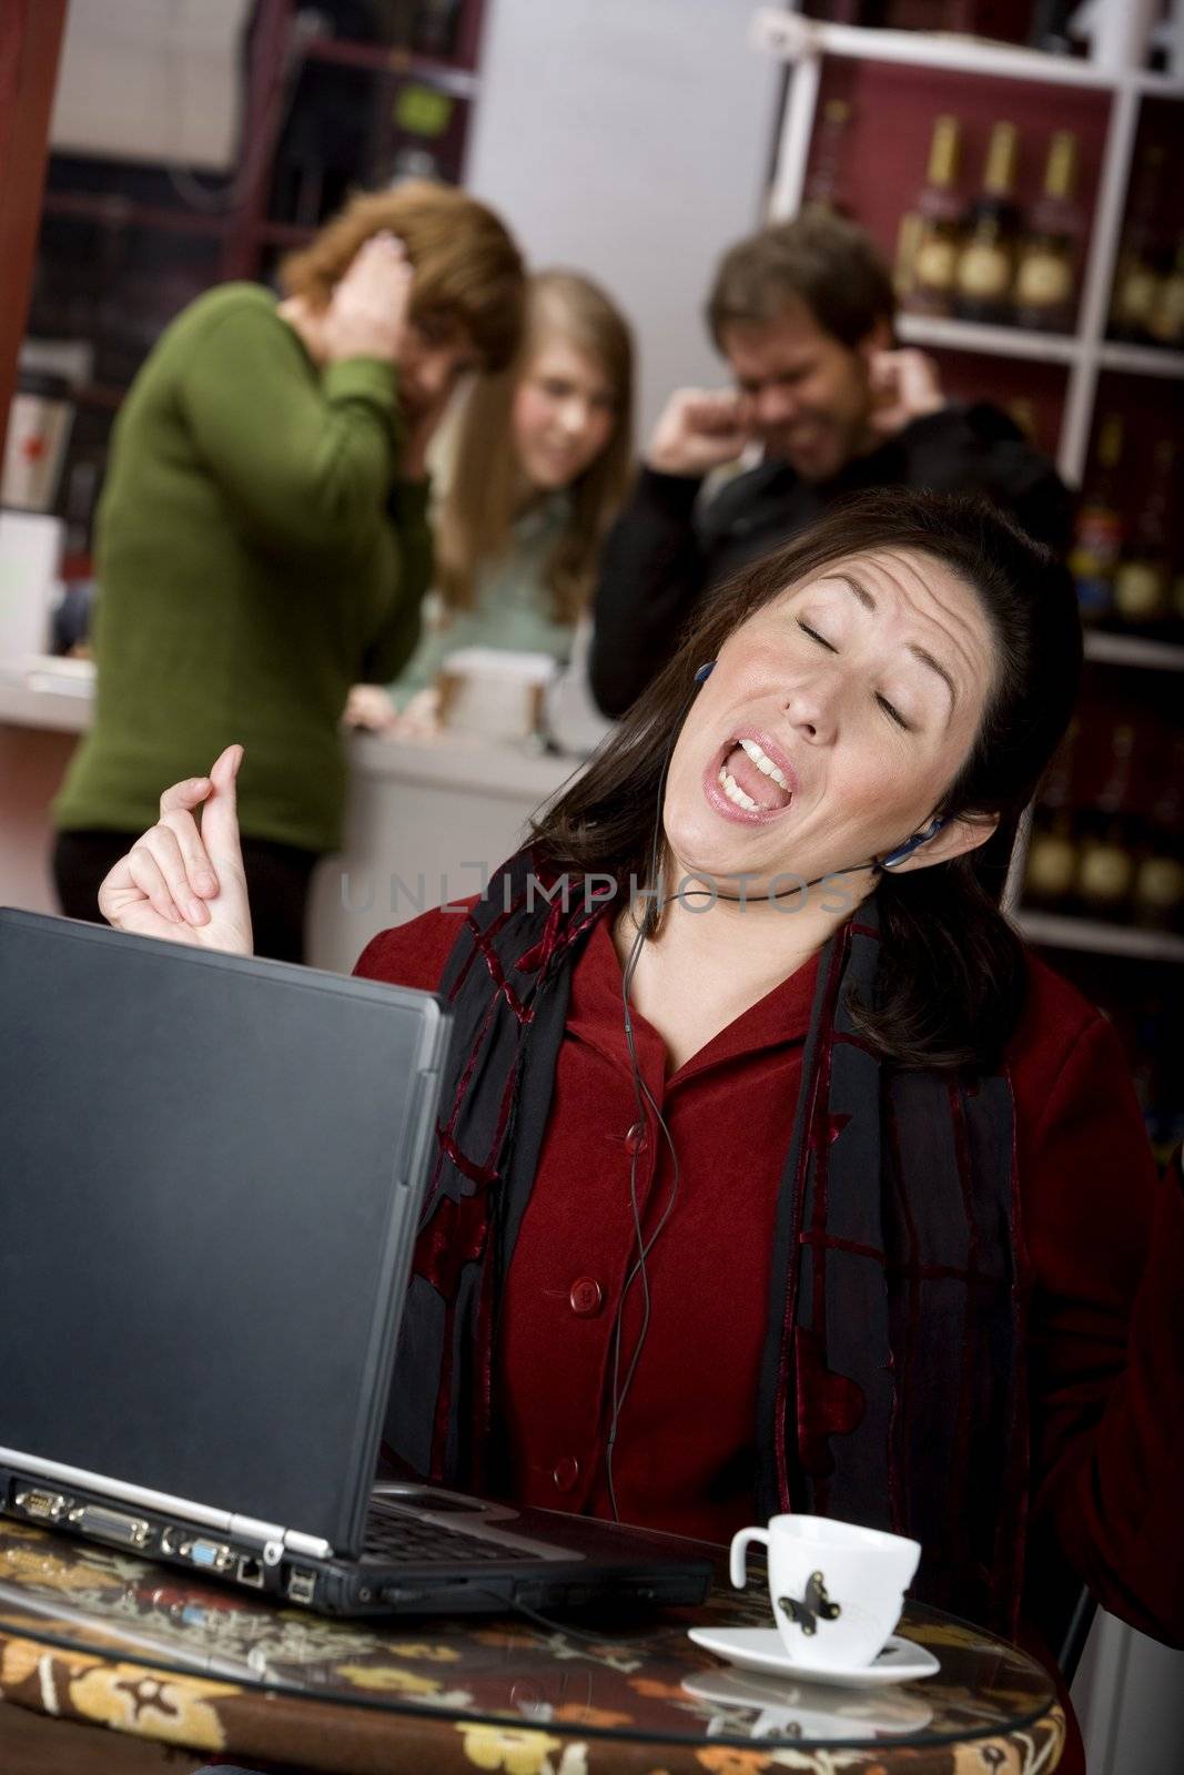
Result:
{"label": "long-haired blonde girl standing between the two people covering their ears", "polygon": [[433,731],[437,676],[458,648],[570,660],[628,485],[632,383],[628,323],[609,296],[575,272],[529,279],[517,362],[478,378],[458,415],[419,648],[389,694],[355,689],[351,721]]}

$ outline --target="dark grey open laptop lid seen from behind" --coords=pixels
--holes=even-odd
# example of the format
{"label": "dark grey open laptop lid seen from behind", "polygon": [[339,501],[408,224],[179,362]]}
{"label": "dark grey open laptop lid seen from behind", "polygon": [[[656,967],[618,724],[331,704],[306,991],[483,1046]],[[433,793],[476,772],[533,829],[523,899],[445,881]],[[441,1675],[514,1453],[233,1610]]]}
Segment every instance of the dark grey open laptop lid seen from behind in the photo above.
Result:
{"label": "dark grey open laptop lid seen from behind", "polygon": [[0,912],[0,1447],[351,1551],[446,1022]]}

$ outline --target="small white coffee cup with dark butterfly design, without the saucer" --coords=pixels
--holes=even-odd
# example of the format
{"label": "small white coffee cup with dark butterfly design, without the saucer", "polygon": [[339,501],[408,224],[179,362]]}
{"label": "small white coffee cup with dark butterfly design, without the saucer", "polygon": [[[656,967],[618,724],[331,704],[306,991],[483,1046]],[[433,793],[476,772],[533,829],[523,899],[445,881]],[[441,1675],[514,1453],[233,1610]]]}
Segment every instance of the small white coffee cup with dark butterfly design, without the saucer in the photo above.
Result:
{"label": "small white coffee cup with dark butterfly design, without the saucer", "polygon": [[731,1582],[747,1582],[753,1541],[769,1550],[769,1599],[781,1644],[808,1670],[859,1670],[900,1621],[921,1546],[829,1516],[770,1516],[731,1537]]}

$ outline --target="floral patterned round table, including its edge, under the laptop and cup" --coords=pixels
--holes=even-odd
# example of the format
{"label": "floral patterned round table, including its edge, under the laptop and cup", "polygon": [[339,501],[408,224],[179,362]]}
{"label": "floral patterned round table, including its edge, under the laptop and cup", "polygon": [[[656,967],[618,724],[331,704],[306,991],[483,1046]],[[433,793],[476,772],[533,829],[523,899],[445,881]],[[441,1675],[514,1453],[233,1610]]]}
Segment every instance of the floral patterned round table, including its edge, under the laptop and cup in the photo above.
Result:
{"label": "floral patterned round table, including its edge, under the laptop and cup", "polygon": [[760,1622],[722,1583],[699,1610],[614,1626],[344,1622],[46,1530],[0,1523],[0,1699],[233,1761],[344,1775],[1049,1775],[1065,1722],[1044,1670],[911,1608],[941,1670],[840,1690],[753,1677],[685,1635]]}

